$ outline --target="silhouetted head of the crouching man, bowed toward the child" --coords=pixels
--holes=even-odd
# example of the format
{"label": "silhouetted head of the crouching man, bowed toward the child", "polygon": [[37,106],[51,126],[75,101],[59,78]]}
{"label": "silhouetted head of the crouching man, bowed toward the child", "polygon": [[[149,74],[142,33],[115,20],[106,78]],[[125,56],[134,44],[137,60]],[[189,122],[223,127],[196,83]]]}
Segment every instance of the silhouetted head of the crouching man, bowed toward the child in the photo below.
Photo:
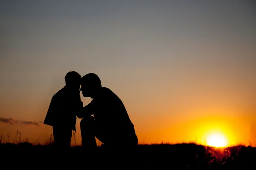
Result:
{"label": "silhouetted head of the crouching man, bowed toward the child", "polygon": [[101,80],[96,74],[89,73],[82,77],[80,90],[84,97],[93,98],[100,88],[102,88]]}

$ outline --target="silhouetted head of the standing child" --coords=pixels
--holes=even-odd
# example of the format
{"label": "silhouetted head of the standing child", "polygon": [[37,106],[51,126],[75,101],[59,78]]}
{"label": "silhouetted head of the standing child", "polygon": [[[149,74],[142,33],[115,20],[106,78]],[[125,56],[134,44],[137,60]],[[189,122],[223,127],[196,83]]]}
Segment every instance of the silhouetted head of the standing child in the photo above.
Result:
{"label": "silhouetted head of the standing child", "polygon": [[81,79],[81,75],[76,71],[70,71],[65,76],[66,86],[71,88],[80,88]]}

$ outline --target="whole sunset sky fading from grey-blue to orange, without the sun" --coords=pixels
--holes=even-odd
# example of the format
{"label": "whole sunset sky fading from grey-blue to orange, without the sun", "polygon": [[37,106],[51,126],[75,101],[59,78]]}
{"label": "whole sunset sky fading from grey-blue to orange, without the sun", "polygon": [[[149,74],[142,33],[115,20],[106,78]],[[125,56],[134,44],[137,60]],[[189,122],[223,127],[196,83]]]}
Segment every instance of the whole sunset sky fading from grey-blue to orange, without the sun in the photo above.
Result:
{"label": "whole sunset sky fading from grey-blue to orange, without the sun", "polygon": [[140,143],[256,146],[255,30],[253,0],[1,0],[0,134],[49,140],[72,70],[122,99]]}

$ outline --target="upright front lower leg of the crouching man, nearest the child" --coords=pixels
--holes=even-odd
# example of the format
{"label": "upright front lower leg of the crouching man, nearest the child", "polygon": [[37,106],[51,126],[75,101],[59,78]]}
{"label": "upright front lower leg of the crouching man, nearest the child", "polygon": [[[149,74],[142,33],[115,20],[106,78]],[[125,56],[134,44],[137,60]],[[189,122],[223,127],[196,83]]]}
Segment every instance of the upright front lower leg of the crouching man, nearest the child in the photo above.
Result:
{"label": "upright front lower leg of the crouching man, nearest the child", "polygon": [[95,120],[93,116],[81,119],[80,122],[82,146],[88,149],[97,147],[95,139]]}

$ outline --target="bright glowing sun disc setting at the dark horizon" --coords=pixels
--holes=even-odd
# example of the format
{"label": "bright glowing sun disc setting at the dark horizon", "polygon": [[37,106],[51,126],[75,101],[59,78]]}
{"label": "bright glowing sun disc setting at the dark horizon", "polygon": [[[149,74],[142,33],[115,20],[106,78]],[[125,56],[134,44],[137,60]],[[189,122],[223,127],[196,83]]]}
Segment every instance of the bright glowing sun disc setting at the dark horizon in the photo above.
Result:
{"label": "bright glowing sun disc setting at the dark horizon", "polygon": [[214,147],[226,147],[227,139],[223,135],[213,134],[207,138],[207,145]]}

